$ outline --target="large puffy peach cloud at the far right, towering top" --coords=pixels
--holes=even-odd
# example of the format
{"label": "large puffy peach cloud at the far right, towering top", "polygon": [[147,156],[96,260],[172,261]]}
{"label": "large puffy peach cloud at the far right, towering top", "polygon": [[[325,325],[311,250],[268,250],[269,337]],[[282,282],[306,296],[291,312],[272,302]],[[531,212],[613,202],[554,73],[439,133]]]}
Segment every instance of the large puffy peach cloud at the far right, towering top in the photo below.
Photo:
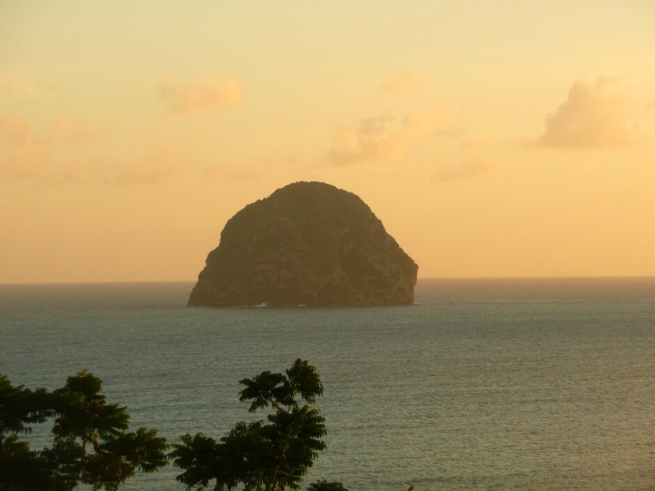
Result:
{"label": "large puffy peach cloud at the far right, towering top", "polygon": [[639,104],[617,77],[576,81],[567,101],[546,117],[539,146],[555,148],[625,147],[646,137],[645,104]]}

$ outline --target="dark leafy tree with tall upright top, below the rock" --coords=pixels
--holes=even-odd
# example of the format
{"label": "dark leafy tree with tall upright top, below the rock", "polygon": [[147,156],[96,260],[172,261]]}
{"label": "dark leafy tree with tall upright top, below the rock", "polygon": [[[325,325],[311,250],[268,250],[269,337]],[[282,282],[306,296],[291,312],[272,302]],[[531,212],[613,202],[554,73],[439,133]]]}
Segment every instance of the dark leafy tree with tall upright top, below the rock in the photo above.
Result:
{"label": "dark leafy tree with tall upright top, below the rock", "polygon": [[[282,373],[262,372],[252,379],[240,380],[245,388],[239,400],[250,402],[249,412],[272,412],[266,421],[240,421],[219,442],[198,433],[180,437],[171,457],[183,469],[178,481],[188,489],[205,489],[215,481],[214,489],[244,491],[283,491],[300,489],[300,482],[325,449],[325,419],[312,404],[323,395],[323,384],[316,367],[297,359]],[[305,403],[300,405],[300,396]],[[311,491],[347,491],[341,483],[320,481]]]}

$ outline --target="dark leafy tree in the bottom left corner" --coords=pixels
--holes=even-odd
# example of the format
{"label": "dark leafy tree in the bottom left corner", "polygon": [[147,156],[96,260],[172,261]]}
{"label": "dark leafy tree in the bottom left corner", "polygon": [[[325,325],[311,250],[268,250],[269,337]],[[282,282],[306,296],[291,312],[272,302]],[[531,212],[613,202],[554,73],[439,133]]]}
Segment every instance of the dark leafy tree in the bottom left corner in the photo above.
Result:
{"label": "dark leafy tree in the bottom left corner", "polygon": [[[137,470],[167,465],[168,444],[156,430],[127,432],[127,408],[107,404],[102,380],[86,371],[52,393],[13,387],[0,375],[0,491],[68,491],[79,483],[117,491]],[[52,446],[32,451],[20,434],[55,417]]]}

